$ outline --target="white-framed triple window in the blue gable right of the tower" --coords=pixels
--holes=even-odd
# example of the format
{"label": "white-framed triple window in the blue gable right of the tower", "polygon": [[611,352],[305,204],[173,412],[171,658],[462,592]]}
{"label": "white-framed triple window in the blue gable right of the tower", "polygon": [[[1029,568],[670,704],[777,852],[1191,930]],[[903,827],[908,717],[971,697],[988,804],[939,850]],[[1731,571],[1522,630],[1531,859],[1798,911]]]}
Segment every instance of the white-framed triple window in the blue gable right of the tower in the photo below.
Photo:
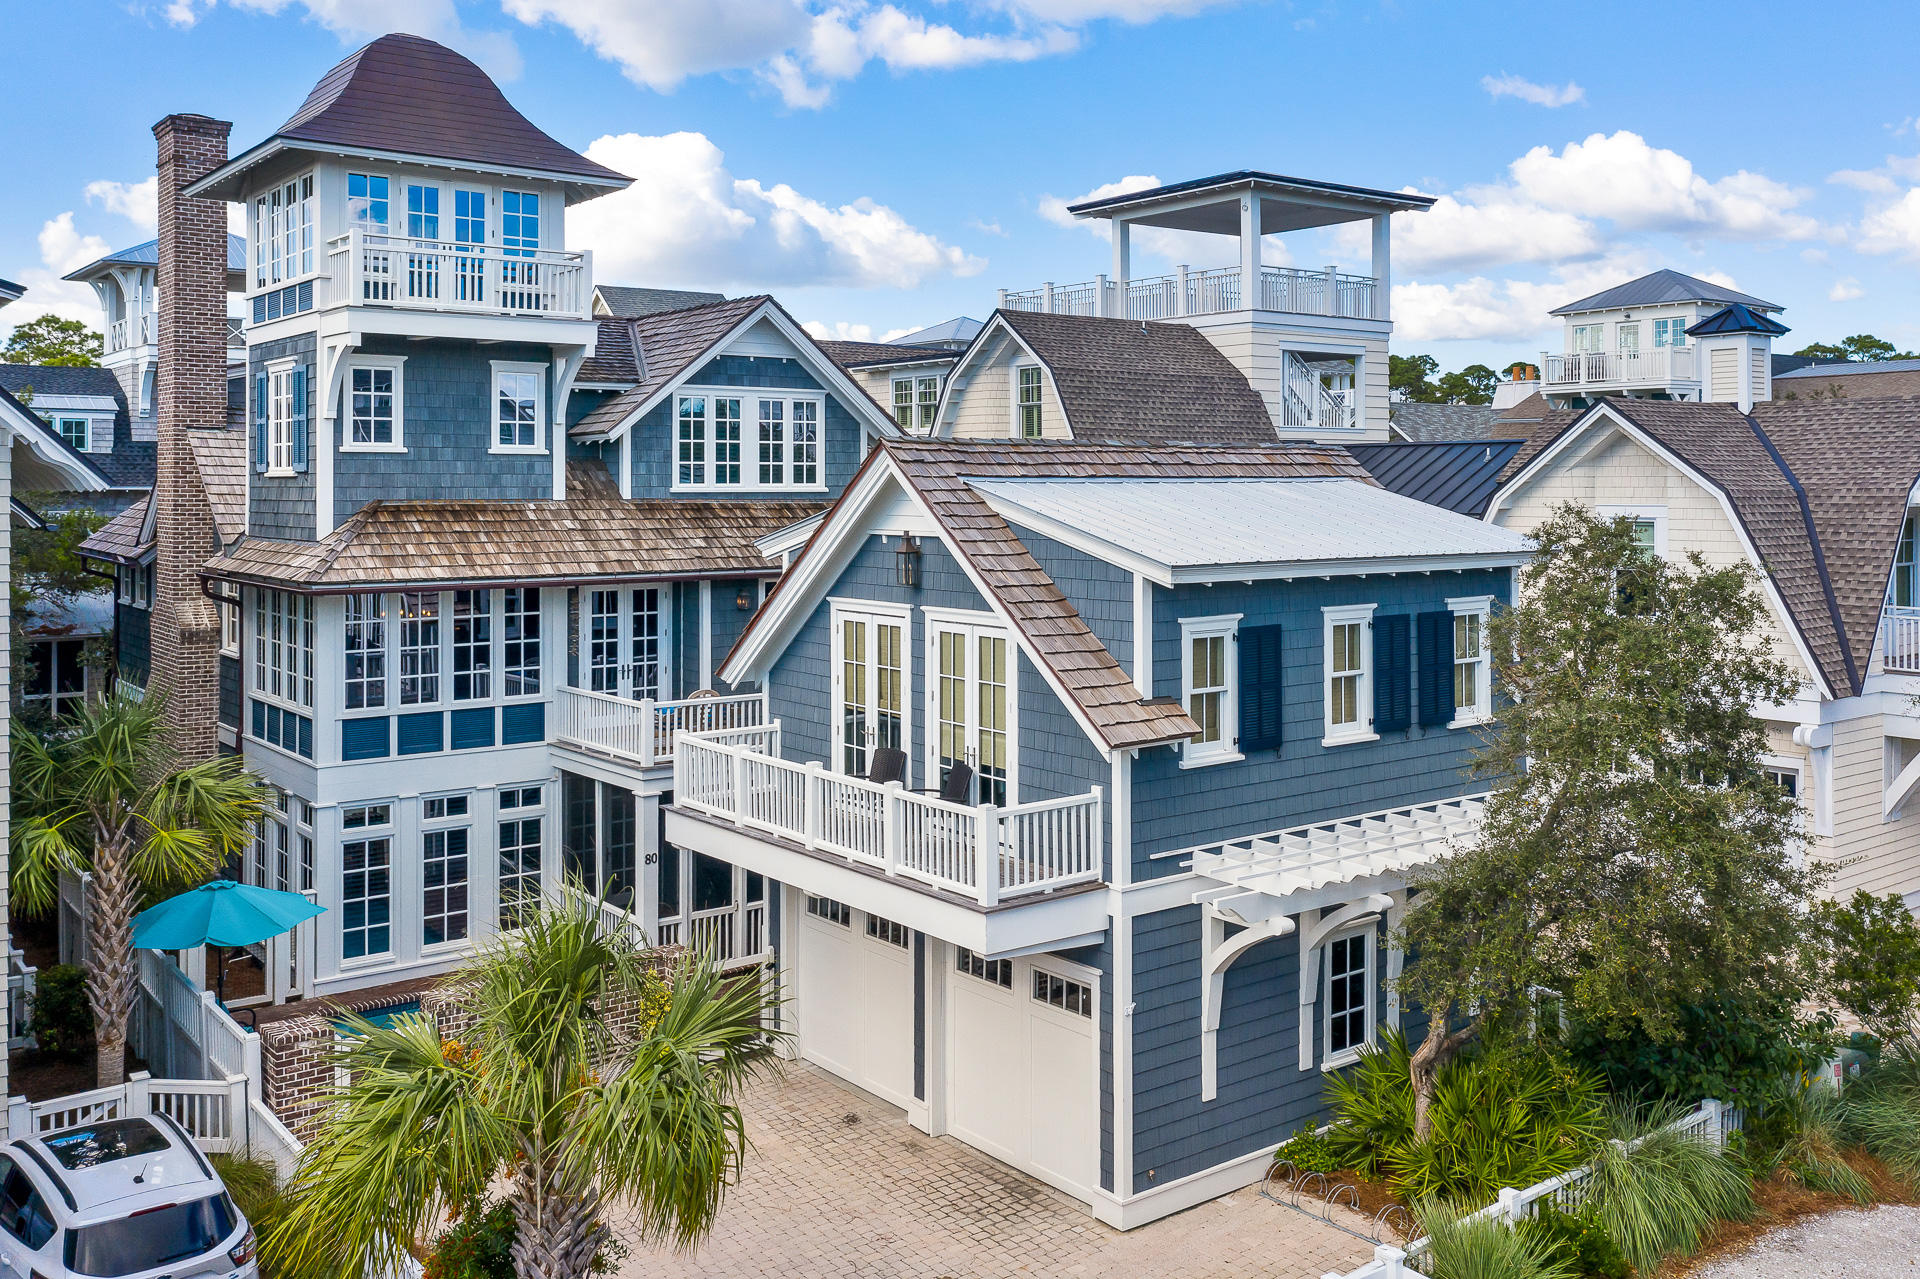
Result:
{"label": "white-framed triple window in the blue gable right of the tower", "polygon": [[[687,392],[674,399],[674,488],[820,488],[818,396]],[[753,415],[753,455],[741,436]]]}

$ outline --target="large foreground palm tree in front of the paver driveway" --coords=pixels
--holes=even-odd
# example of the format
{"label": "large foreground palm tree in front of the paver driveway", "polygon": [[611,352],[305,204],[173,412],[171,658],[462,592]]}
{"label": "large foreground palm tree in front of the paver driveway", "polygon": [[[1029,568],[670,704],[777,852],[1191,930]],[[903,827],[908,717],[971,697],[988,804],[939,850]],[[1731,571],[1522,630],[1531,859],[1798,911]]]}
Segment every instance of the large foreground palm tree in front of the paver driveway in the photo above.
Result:
{"label": "large foreground palm tree in front of the paver driveway", "polygon": [[[286,1273],[363,1273],[444,1214],[505,1185],[515,1273],[582,1279],[618,1200],[651,1241],[689,1246],[739,1175],[737,1097],[768,1060],[755,979],[699,956],[666,974],[584,895],[524,918],[455,981],[470,1029],[353,1020],[348,1072],[263,1241]],[[643,1016],[620,1016],[639,1002]],[[664,1004],[664,1006],[662,1006]]]}

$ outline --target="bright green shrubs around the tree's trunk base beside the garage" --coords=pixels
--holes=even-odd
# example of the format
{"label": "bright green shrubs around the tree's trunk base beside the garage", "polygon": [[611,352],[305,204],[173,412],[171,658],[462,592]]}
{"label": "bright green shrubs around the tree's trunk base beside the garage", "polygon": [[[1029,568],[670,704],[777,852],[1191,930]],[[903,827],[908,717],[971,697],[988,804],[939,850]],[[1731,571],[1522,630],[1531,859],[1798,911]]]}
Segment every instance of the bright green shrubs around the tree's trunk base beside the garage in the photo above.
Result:
{"label": "bright green shrubs around the tree's trunk base beside the garage", "polygon": [[1329,1075],[1336,1123],[1329,1148],[1342,1168],[1413,1196],[1488,1202],[1578,1168],[1605,1129],[1599,1077],[1540,1052],[1494,1045],[1440,1072],[1432,1137],[1413,1141],[1407,1041],[1398,1031]]}

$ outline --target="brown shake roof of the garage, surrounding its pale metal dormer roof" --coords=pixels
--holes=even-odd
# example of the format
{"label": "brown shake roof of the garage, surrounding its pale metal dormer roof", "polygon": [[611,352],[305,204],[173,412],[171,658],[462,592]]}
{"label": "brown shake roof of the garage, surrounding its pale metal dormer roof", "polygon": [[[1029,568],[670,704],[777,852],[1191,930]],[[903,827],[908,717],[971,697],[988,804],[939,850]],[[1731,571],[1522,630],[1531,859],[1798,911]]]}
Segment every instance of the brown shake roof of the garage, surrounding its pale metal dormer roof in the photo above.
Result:
{"label": "brown shake roof of the garage, surrounding its pale metal dormer roof", "polygon": [[[866,465],[877,465],[881,457],[893,463],[902,484],[927,505],[948,543],[973,568],[1110,749],[1181,741],[1196,734],[1198,726],[1179,701],[1140,697],[1133,678],[1087,628],[1014,528],[968,480],[1336,476],[1373,484],[1346,449],[1319,444],[1183,449],[1079,442],[883,440]],[[847,488],[852,492],[854,484]],[[829,515],[822,528],[831,522]],[[816,532],[814,540],[818,536]],[[770,603],[789,590],[789,582],[793,574],[780,580]],[[768,607],[762,607],[747,624],[747,634],[766,616]]]}

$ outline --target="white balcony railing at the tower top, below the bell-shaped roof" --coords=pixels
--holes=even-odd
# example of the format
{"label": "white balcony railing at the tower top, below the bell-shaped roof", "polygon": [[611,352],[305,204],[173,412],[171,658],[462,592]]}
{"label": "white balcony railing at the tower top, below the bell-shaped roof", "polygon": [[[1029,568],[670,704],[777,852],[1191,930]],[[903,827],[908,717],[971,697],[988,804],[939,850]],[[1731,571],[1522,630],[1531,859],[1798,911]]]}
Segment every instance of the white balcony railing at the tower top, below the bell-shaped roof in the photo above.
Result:
{"label": "white balcony railing at the tower top, below the bell-shaped roof", "polygon": [[326,244],[326,305],[589,319],[593,255],[353,229]]}

